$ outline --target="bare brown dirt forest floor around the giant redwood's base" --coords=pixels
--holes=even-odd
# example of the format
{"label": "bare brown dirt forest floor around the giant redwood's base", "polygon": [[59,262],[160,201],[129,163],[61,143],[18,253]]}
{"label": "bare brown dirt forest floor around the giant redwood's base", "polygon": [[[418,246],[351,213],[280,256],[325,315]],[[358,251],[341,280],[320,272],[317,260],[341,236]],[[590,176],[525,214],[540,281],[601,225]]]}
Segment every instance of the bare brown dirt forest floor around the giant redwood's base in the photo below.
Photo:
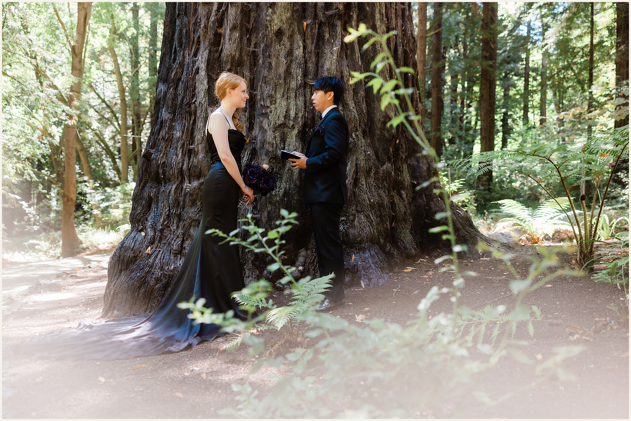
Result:
{"label": "bare brown dirt forest floor around the giant redwood's base", "polygon": [[[511,262],[527,274],[534,246],[517,249]],[[565,255],[565,262],[572,257]],[[332,314],[358,323],[356,315],[382,318],[404,325],[416,315],[416,306],[433,285],[448,285],[449,275],[437,272],[432,258],[408,263],[414,269],[392,272],[383,285],[346,289],[345,308]],[[506,304],[510,297],[507,270],[502,261],[485,258],[463,262],[478,272],[463,290],[461,303],[481,308],[487,303]],[[224,418],[218,411],[234,406],[232,383],[249,383],[266,393],[273,376],[290,367],[263,367],[249,374],[252,360],[245,347],[220,352],[227,337],[178,354],[114,361],[33,360],[9,352],[8,347],[28,338],[80,321],[97,322],[103,304],[107,270],[79,270],[54,280],[43,280],[3,306],[3,418]],[[524,353],[545,361],[553,347],[580,343],[584,350],[565,360],[564,367],[577,381],[546,381],[526,389],[495,407],[471,409],[469,418],[628,418],[628,323],[608,306],[618,301],[625,308],[623,291],[593,282],[588,277],[560,277],[526,297],[526,304],[541,308],[545,321],[536,323],[534,337],[517,333],[529,345]],[[415,291],[418,291],[415,293]],[[614,296],[615,294],[615,296]],[[274,292],[274,301],[283,301]],[[451,311],[441,298],[429,314]],[[626,311],[626,309],[625,309]],[[571,327],[574,326],[574,327]],[[574,339],[579,328],[582,333]],[[264,332],[268,340],[273,332]],[[530,384],[534,367],[505,356],[478,379],[480,387],[497,399],[507,391]]]}

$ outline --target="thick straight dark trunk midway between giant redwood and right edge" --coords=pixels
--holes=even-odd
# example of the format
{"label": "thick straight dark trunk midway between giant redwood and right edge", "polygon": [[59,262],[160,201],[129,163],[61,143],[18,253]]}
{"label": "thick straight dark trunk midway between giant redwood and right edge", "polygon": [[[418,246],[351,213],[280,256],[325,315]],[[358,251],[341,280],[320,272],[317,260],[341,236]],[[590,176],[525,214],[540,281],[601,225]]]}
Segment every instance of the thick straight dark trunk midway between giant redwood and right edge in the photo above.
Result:
{"label": "thick straight dark trunk midway between giant redwood and right edge", "polygon": [[[495,82],[497,79],[497,3],[482,8],[482,59],[480,74],[480,151],[495,149]],[[478,176],[480,189],[491,190],[493,173]]]}

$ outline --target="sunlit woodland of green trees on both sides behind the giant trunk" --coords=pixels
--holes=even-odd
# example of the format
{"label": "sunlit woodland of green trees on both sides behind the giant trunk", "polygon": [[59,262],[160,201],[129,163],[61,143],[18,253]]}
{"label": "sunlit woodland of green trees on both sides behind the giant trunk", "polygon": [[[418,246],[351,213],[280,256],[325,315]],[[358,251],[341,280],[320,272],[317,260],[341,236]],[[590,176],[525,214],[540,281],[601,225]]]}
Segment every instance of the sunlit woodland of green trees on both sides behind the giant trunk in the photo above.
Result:
{"label": "sunlit woodland of green trees on both sides behind the giant trunk", "polygon": [[[417,52],[419,62],[426,57],[418,74],[425,132],[446,163],[628,124],[628,86],[620,83],[628,81],[628,3],[498,3],[497,49],[485,51],[482,8],[412,3],[419,40],[425,30]],[[129,230],[138,158],[153,122],[164,4],[93,3],[85,45],[74,52],[80,78],[71,45],[86,12],[76,3],[3,3],[2,13],[3,261],[111,250]],[[626,38],[616,35],[621,14]],[[484,74],[493,55],[497,70]],[[76,146],[67,156],[73,125]],[[62,251],[64,189],[74,188],[68,171],[76,174],[69,215],[77,241]],[[536,183],[509,170],[484,180],[447,165],[440,175],[485,234],[505,216],[497,200],[533,208],[546,200]],[[612,187],[604,212],[610,220],[628,216],[628,163],[618,166]],[[577,195],[581,188],[589,195],[589,183],[575,186]]]}

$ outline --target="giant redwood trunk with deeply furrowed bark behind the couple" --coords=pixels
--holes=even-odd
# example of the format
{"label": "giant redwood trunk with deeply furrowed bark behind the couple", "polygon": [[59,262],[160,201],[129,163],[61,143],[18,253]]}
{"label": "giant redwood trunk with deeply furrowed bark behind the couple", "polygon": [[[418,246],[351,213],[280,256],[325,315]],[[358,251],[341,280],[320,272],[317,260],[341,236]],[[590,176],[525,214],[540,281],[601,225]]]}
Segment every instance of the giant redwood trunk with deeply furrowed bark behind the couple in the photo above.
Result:
{"label": "giant redwood trunk with deeply furrowed bark behind the couple", "polygon": [[[276,190],[259,200],[257,224],[274,227],[281,208],[298,212],[300,224],[286,235],[286,263],[304,262],[305,274],[317,275],[303,174],[278,156],[281,149],[304,151],[307,132],[319,121],[310,102],[313,81],[321,75],[348,81],[350,71],[368,71],[379,54],[377,44],[360,52],[363,38],[343,42],[346,28],[360,22],[379,33],[397,30],[389,39],[394,59],[416,68],[410,3],[166,4],[155,122],[138,166],[131,230],[110,258],[104,315],[155,309],[177,274],[202,215],[202,183],[210,167],[204,126],[218,104],[213,84],[224,70],[248,83],[242,121],[249,142],[242,161],[281,173]],[[406,83],[418,89],[416,76],[406,76]],[[413,101],[419,108],[418,92]],[[351,132],[349,200],[341,221],[347,284],[378,284],[407,259],[437,247],[449,250],[427,232],[444,211],[436,185],[415,189],[436,170],[418,156],[420,147],[403,125],[386,127],[394,110],[383,113],[379,103],[372,88],[357,83],[347,87],[340,104]],[[477,258],[481,234],[461,208],[452,211],[459,242],[469,246],[469,258]],[[242,252],[242,263],[245,282],[274,279],[265,272],[264,256]]]}

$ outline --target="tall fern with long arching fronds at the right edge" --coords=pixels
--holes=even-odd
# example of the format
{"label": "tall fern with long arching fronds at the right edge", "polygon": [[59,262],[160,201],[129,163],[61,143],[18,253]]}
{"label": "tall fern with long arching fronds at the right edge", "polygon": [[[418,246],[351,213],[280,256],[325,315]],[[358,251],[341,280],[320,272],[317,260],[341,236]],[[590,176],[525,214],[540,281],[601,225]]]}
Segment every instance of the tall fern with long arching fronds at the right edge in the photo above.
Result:
{"label": "tall fern with long arching fronds at the right edge", "polygon": [[[483,152],[467,159],[451,161],[450,164],[459,170],[468,168],[467,173],[471,176],[481,175],[488,170],[509,168],[536,182],[553,200],[557,199],[551,190],[560,185],[570,206],[569,213],[563,212],[577,241],[577,265],[582,270],[589,270],[611,179],[618,164],[628,159],[628,141],[626,125],[619,129],[595,132],[571,142],[543,142],[513,151],[502,149]],[[584,193],[573,197],[570,188],[583,182],[593,185],[592,197],[588,198]],[[563,209],[562,204],[558,206]]]}

